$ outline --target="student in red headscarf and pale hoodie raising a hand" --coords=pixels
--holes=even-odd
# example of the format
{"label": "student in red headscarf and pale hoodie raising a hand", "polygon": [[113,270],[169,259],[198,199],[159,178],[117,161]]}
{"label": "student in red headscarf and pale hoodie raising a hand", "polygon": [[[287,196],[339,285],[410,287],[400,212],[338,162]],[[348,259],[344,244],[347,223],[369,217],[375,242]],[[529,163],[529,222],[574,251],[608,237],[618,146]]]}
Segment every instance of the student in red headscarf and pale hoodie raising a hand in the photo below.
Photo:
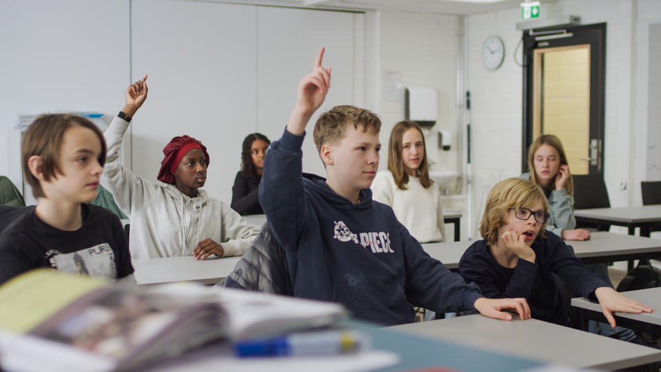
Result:
{"label": "student in red headscarf and pale hoodie raising a hand", "polygon": [[165,146],[158,172],[162,185],[140,178],[119,163],[124,133],[147,99],[146,80],[147,75],[127,88],[126,105],[104,134],[108,152],[101,185],[131,220],[131,257],[241,256],[260,231],[200,189],[209,166],[207,147],[200,141],[180,136]]}

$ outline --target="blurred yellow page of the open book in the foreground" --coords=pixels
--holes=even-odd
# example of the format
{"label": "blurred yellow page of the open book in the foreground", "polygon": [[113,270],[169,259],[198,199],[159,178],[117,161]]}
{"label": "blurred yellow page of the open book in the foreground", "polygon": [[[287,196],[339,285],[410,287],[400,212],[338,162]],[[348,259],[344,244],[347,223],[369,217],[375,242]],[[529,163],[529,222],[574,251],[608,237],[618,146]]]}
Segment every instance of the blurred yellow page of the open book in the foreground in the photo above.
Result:
{"label": "blurred yellow page of the open book in the foreground", "polygon": [[107,285],[103,280],[80,280],[52,271],[29,271],[0,287],[0,329],[27,333],[71,302]]}

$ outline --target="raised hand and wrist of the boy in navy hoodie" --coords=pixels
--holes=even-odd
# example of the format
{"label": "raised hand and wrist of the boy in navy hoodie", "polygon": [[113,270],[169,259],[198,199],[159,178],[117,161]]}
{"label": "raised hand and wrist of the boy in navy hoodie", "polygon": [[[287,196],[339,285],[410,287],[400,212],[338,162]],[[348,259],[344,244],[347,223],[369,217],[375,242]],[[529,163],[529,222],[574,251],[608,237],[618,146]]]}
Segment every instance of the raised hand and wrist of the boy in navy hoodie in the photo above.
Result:
{"label": "raised hand and wrist of the boy in navy hoodie", "polygon": [[287,130],[292,134],[301,135],[305,131],[305,126],[317,111],[319,106],[324,103],[328,88],[330,88],[330,70],[331,68],[322,67],[324,58],[324,48],[319,50],[312,72],[307,74],[298,83],[298,94],[296,107],[291,113]]}

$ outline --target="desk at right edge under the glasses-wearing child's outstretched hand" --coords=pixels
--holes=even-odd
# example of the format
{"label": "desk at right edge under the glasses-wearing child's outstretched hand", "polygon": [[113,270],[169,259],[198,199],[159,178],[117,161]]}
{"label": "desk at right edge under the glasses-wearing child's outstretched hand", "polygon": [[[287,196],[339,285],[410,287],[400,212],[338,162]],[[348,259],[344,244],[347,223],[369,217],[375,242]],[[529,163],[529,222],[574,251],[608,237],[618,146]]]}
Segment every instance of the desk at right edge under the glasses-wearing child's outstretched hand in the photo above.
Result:
{"label": "desk at right edge under the glasses-wearing child's outstretched hand", "polygon": [[[654,311],[651,313],[613,313],[616,323],[626,323],[627,328],[633,328],[640,331],[646,331],[651,335],[661,336],[661,287],[639,289],[638,291],[622,292],[623,295],[645,304]],[[601,314],[601,307],[596,302],[591,302],[585,297],[572,298],[571,306],[579,310],[579,318],[583,316],[585,320],[592,319],[594,313]],[[601,318],[601,317],[598,317]],[[596,319],[596,318],[595,318]]]}

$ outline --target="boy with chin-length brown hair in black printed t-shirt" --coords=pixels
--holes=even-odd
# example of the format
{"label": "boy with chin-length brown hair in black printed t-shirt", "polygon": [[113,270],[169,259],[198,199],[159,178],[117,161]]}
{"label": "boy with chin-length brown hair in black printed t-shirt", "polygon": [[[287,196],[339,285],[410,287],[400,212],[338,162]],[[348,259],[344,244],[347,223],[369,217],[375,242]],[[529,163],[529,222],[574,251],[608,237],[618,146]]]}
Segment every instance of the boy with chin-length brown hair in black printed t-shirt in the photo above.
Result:
{"label": "boy with chin-length brown hair in black printed t-shirt", "polygon": [[135,282],[116,214],[87,204],[105,152],[103,134],[82,116],[42,115],[30,125],[23,175],[39,202],[0,234],[0,283],[37,267]]}

